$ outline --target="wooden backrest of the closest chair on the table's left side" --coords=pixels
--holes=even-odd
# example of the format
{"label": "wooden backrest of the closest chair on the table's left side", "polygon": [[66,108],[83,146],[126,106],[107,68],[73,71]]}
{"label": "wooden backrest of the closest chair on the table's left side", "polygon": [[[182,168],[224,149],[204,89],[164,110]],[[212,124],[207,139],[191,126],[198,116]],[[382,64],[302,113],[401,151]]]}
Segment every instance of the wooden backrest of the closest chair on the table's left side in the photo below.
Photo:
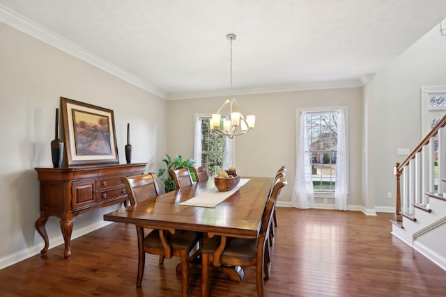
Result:
{"label": "wooden backrest of the closest chair on the table's left side", "polygon": [[125,184],[131,205],[160,195],[154,173],[121,177],[121,181]]}

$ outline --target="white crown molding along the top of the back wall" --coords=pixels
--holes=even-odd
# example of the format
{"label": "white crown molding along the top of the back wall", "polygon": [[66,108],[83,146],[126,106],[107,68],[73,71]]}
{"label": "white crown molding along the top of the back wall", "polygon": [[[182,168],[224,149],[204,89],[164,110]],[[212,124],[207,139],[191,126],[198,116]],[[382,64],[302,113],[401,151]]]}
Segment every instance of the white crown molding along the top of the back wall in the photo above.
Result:
{"label": "white crown molding along the top of the back wall", "polygon": [[[364,85],[360,79],[345,81],[324,81],[319,83],[300,83],[291,86],[263,87],[243,90],[232,90],[232,95],[258,95],[268,93],[289,93],[303,90],[327,90],[336,88],[360,88]],[[197,99],[208,97],[227,97],[229,90],[201,93],[178,93],[168,95],[167,100]]]}

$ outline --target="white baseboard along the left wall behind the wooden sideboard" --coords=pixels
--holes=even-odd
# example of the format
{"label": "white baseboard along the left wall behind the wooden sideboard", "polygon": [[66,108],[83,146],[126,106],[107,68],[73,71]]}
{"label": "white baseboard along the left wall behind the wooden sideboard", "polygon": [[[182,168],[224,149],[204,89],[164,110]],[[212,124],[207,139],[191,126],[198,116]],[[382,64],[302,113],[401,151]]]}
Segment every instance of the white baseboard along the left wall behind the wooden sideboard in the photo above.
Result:
{"label": "white baseboard along the left wall behind the wooden sideboard", "polygon": [[[105,220],[102,220],[97,223],[93,223],[91,225],[88,225],[86,227],[80,228],[79,230],[73,230],[71,234],[71,239],[76,239],[79,236],[85,235],[87,233],[93,232],[94,230],[98,230],[102,227],[105,227],[113,222],[107,222]],[[38,235],[40,236],[40,235]],[[63,236],[60,234],[59,236],[56,236],[55,238],[52,238],[49,241],[49,248],[54,248],[55,246],[59,246],[61,244],[64,244]],[[13,254],[7,255],[5,257],[0,258],[0,269],[3,269],[5,267],[11,266],[13,264],[16,264],[20,261],[23,261],[24,259],[28,259],[29,257],[33,257],[34,255],[40,254],[40,250],[42,250],[45,243],[41,241],[40,243],[37,243],[34,246],[31,246],[29,248],[25,248],[24,250],[20,250],[18,252],[13,252]],[[63,257],[63,255],[61,255]]]}

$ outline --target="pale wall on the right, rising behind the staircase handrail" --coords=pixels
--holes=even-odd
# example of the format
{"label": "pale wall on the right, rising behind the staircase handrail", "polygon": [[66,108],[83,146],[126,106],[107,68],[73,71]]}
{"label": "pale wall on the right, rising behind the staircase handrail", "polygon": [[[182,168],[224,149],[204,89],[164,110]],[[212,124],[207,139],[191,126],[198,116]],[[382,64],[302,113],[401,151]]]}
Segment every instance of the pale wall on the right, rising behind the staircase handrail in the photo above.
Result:
{"label": "pale wall on the right, rising behind the staircase handrail", "polygon": [[[439,26],[380,70],[374,77],[374,166],[375,202],[394,207],[395,177],[393,166],[405,156],[397,148],[420,143],[422,135],[420,88],[446,86],[446,36]],[[392,199],[387,199],[387,192]]]}

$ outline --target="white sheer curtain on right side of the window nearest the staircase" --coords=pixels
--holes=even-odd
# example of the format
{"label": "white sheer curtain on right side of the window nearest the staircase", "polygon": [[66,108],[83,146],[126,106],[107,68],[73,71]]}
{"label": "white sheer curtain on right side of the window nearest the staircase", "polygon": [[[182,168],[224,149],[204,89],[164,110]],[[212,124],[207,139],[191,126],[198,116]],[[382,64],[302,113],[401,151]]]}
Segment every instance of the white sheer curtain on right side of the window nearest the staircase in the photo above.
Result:
{"label": "white sheer curtain on right side of the window nearest the staircase", "polygon": [[347,156],[346,120],[342,109],[337,111],[337,154],[336,186],[334,187],[334,206],[338,210],[347,209]]}

